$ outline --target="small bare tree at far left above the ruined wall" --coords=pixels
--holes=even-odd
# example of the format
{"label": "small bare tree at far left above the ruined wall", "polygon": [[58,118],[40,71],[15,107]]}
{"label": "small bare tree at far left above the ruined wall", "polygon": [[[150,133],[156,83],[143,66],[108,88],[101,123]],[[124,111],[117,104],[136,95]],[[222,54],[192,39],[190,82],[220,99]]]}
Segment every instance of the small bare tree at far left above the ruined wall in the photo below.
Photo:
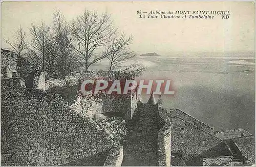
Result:
{"label": "small bare tree at far left above the ruined wall", "polygon": [[4,41],[11,46],[11,50],[18,54],[18,57],[22,57],[25,53],[24,50],[27,48],[27,35],[25,31],[19,26],[19,29],[14,35],[13,42],[9,39],[5,39]]}

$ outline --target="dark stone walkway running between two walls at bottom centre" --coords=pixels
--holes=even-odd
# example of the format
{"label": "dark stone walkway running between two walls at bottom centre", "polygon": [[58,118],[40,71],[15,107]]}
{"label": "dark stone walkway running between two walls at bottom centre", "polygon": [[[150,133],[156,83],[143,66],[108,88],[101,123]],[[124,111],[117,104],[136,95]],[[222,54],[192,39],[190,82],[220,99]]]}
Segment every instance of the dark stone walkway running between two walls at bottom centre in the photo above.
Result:
{"label": "dark stone walkway running between two walls at bottom centre", "polygon": [[123,146],[122,166],[157,166],[157,105],[142,104]]}

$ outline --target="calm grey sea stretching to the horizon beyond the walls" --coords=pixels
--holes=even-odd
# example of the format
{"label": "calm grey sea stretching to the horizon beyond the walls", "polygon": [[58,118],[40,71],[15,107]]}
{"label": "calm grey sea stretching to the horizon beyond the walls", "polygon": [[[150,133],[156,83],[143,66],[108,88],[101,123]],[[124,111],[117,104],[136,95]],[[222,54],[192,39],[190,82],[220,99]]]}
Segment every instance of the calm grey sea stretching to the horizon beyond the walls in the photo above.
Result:
{"label": "calm grey sea stretching to the horizon beyond the walls", "polygon": [[[95,64],[104,70],[108,62]],[[170,79],[175,95],[163,95],[164,108],[183,112],[216,131],[255,131],[255,58],[253,54],[136,57],[146,70],[137,79]],[[142,94],[146,102],[148,95]]]}

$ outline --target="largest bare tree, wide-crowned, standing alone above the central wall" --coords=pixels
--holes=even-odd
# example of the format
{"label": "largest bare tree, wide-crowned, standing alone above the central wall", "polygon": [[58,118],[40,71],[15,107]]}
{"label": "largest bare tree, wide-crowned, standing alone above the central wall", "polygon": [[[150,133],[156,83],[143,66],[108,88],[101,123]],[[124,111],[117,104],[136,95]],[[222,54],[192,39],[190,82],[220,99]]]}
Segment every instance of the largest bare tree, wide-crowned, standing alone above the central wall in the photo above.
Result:
{"label": "largest bare tree, wide-crowned, standing alone above the central wall", "polygon": [[92,64],[108,56],[109,50],[105,54],[97,51],[112,41],[116,31],[110,15],[106,13],[99,16],[96,12],[84,11],[71,22],[71,47],[76,50],[78,61],[86,71]]}

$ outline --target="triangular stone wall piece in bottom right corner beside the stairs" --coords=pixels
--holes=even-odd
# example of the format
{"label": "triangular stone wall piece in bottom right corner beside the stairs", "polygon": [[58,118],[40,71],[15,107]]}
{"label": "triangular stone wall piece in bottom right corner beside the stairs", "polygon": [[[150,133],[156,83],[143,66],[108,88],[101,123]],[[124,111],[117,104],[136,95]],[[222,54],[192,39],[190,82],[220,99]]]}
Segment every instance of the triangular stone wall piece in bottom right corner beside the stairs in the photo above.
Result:
{"label": "triangular stone wall piece in bottom right corner beside the stairs", "polygon": [[255,136],[233,138],[239,150],[250,162],[255,163]]}

